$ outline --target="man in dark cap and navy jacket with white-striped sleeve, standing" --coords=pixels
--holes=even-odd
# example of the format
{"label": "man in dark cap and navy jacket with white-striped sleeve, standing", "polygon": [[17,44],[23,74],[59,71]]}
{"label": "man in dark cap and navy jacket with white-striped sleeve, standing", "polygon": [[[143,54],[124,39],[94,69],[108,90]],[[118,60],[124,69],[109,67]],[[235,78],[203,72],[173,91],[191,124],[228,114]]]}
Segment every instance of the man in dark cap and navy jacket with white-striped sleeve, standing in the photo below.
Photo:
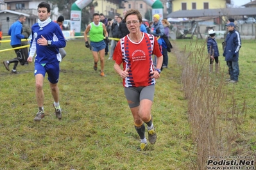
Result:
{"label": "man in dark cap and navy jacket with white-striped sleeve, standing", "polygon": [[235,83],[238,82],[239,76],[238,58],[239,49],[241,48],[241,38],[239,32],[235,30],[234,22],[226,24],[226,27],[228,28],[228,35],[226,35],[225,39],[226,46],[223,56],[225,56],[225,61],[229,68],[229,82]]}

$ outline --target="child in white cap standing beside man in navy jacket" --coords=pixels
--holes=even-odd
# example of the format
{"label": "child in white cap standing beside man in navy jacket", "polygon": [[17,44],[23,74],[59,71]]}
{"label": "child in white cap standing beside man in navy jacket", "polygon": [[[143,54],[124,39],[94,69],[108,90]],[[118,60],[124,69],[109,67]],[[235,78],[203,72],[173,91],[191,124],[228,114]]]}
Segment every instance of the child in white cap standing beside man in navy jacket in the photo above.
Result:
{"label": "child in white cap standing beside man in navy jacket", "polygon": [[209,37],[207,39],[207,49],[210,56],[210,72],[213,70],[213,63],[215,61],[215,73],[218,73],[218,63],[219,63],[219,49],[218,44],[215,40],[215,31],[210,29]]}

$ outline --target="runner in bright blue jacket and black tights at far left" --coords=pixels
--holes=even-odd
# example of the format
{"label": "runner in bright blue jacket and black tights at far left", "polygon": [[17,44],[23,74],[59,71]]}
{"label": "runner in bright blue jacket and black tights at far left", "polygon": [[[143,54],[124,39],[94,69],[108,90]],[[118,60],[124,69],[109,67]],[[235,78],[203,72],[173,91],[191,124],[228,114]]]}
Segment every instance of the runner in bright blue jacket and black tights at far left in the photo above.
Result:
{"label": "runner in bright blue jacket and black tights at far left", "polygon": [[[26,17],[24,15],[19,15],[18,20],[12,24],[8,31],[8,35],[11,36],[11,45],[13,48],[21,47],[21,39],[27,39],[28,36],[22,35],[22,25],[26,22]],[[26,62],[26,58],[24,56],[24,48],[23,49],[15,49],[16,58],[10,59],[8,61],[3,61],[3,65],[5,66],[6,70],[10,71],[9,65],[10,63],[14,63],[12,68],[12,73],[17,73],[16,67],[21,63],[24,65]]]}

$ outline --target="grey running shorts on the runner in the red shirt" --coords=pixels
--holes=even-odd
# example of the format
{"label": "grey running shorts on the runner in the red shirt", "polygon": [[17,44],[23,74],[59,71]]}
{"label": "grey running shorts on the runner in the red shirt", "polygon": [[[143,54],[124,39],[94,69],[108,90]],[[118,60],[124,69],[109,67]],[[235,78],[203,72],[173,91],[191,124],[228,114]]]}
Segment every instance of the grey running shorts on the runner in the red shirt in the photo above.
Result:
{"label": "grey running shorts on the runner in the red shirt", "polygon": [[155,84],[146,87],[124,88],[124,94],[130,108],[139,106],[141,100],[143,99],[148,99],[153,102],[155,94]]}

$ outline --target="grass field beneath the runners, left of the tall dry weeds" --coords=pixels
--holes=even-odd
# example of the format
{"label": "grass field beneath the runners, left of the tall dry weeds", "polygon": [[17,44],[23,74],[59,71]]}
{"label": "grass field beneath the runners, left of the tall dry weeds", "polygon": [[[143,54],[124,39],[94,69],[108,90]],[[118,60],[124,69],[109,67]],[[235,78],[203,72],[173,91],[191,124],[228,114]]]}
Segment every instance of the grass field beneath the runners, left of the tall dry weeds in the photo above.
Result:
{"label": "grass field beneath the runners, left of the tall dry weeds", "polygon": [[[9,48],[2,43],[1,49]],[[152,114],[157,143],[141,152],[114,61],[105,57],[107,77],[100,77],[83,40],[67,42],[65,50],[58,84],[63,110],[60,121],[55,118],[47,75],[46,116],[35,122],[33,64],[19,65],[17,75],[3,64],[0,67],[0,169],[193,169],[196,150],[181,70],[173,52],[169,53],[169,68],[156,85]],[[0,54],[1,61],[14,57],[13,50]]]}

